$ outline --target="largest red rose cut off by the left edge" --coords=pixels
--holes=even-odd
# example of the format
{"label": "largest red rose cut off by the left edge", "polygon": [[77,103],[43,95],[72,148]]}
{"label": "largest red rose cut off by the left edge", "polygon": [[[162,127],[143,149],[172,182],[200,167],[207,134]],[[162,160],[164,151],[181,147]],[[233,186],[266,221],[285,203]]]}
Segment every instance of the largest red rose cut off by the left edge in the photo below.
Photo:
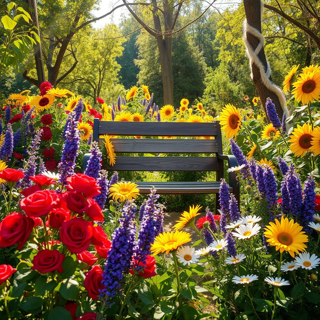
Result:
{"label": "largest red rose cut off by the left edge", "polygon": [[12,212],[0,222],[0,247],[18,244],[20,250],[26,243],[35,222],[20,212]]}

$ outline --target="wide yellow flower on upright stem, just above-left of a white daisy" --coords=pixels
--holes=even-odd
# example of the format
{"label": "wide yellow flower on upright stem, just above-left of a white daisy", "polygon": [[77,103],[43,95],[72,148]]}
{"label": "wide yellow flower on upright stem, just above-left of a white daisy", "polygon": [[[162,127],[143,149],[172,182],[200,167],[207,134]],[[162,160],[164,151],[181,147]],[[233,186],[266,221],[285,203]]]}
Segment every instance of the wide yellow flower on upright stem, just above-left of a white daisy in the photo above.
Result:
{"label": "wide yellow flower on upright stem, just above-left of a white daisy", "polygon": [[155,237],[154,243],[151,245],[151,253],[157,255],[159,253],[168,254],[170,251],[177,250],[181,245],[191,241],[191,235],[185,231],[171,231],[160,233]]}

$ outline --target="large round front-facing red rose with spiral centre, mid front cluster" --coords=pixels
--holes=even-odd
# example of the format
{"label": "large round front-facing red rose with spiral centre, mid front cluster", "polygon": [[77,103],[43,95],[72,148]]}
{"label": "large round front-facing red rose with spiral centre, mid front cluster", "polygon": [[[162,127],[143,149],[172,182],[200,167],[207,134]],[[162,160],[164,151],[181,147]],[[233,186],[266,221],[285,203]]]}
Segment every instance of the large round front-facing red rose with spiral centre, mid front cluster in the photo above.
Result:
{"label": "large round front-facing red rose with spiral centre, mid front cluster", "polygon": [[91,221],[82,218],[74,218],[62,224],[60,228],[60,240],[72,253],[81,253],[89,248],[93,235]]}

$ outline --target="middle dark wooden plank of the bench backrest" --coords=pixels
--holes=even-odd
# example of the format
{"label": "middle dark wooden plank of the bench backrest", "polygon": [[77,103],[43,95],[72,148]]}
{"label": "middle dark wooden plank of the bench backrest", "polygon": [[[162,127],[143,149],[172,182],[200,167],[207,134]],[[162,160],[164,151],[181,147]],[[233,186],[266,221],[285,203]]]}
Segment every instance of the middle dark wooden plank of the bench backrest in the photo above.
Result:
{"label": "middle dark wooden plank of the bench backrest", "polygon": [[[200,139],[111,139],[120,153],[217,153],[217,140]],[[104,140],[103,140],[104,141]]]}

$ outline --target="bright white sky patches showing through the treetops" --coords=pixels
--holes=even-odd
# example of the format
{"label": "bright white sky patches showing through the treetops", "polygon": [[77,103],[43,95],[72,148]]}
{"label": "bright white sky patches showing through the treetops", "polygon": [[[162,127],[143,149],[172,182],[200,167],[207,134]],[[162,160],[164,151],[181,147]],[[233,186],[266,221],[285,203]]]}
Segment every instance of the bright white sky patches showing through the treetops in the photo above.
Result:
{"label": "bright white sky patches showing through the treetops", "polygon": [[[222,11],[227,6],[229,6],[231,4],[239,3],[239,2],[240,2],[240,0],[217,0],[216,3],[214,4],[214,6],[216,8],[219,8],[220,11]],[[95,10],[93,13],[96,17],[100,17],[100,16],[104,15],[105,13],[110,12],[113,7],[115,7],[119,4],[123,4],[123,1],[122,0],[101,0],[100,9]],[[93,27],[94,28],[101,28],[110,22],[118,25],[122,19],[122,17],[121,17],[122,14],[124,14],[125,16],[130,15],[130,12],[125,8],[125,6],[116,9],[111,15],[108,15],[107,17],[94,22]]]}

